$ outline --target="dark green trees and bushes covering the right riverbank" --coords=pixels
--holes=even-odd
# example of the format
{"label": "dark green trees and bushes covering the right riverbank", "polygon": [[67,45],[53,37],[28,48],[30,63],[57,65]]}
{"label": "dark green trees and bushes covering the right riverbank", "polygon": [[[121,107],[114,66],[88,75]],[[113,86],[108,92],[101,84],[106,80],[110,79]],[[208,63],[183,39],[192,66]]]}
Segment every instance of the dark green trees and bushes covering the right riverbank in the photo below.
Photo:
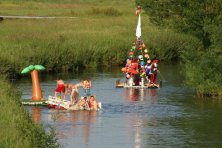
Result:
{"label": "dark green trees and bushes covering the right riverbank", "polygon": [[201,97],[221,97],[222,1],[144,0],[141,4],[152,23],[199,40],[198,46],[179,54],[184,62],[185,84],[196,88]]}

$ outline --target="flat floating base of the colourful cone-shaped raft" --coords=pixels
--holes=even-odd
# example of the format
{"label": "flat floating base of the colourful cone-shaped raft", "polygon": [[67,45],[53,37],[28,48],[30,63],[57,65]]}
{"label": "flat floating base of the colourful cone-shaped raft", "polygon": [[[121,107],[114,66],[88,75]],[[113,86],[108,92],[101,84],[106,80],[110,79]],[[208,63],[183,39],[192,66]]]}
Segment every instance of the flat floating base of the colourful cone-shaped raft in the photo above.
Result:
{"label": "flat floating base of the colourful cone-shaped raft", "polygon": [[141,85],[132,85],[129,86],[127,83],[120,82],[120,80],[116,80],[116,88],[141,88],[141,89],[147,89],[147,88],[160,88],[160,84],[145,84],[144,86]]}

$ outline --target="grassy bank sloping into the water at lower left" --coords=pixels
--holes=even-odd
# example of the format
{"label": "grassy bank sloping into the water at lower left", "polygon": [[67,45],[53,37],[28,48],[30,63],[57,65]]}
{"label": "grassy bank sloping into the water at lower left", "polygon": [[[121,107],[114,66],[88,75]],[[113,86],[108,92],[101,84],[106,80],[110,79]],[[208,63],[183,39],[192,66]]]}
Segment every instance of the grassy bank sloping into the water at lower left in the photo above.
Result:
{"label": "grassy bank sloping into the water at lower left", "polygon": [[1,147],[58,147],[53,131],[46,133],[41,125],[33,123],[15,88],[2,79],[0,87]]}

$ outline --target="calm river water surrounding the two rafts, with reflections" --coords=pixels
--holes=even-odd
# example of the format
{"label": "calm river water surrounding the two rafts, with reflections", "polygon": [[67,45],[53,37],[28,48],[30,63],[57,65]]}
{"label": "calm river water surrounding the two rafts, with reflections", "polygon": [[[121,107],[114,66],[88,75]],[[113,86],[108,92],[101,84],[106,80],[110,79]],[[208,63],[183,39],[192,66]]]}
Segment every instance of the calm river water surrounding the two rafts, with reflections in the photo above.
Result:
{"label": "calm river water surrounding the two rafts, with reflections", "polygon": [[[222,147],[222,102],[195,98],[193,89],[182,85],[179,65],[160,65],[160,89],[115,88],[117,79],[124,81],[119,70],[40,75],[45,98],[54,94],[58,78],[67,83],[90,78],[102,102],[98,112],[26,109],[35,122],[54,127],[66,148]],[[31,98],[30,77],[16,85],[22,98]]]}

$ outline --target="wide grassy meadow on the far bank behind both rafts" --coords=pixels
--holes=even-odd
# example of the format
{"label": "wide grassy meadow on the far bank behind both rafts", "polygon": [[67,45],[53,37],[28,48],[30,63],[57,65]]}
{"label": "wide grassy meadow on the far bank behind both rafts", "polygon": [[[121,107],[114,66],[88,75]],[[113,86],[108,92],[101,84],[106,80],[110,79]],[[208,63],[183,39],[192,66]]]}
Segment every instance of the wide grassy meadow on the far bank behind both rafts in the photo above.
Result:
{"label": "wide grassy meadow on the far bank behind both rafts", "polygon": [[[0,23],[0,72],[11,77],[30,64],[48,71],[121,65],[135,40],[132,1],[3,1],[0,6],[1,15],[59,17]],[[195,38],[159,30],[148,20],[142,14],[142,37],[152,57],[177,59],[181,51],[198,46]]]}

